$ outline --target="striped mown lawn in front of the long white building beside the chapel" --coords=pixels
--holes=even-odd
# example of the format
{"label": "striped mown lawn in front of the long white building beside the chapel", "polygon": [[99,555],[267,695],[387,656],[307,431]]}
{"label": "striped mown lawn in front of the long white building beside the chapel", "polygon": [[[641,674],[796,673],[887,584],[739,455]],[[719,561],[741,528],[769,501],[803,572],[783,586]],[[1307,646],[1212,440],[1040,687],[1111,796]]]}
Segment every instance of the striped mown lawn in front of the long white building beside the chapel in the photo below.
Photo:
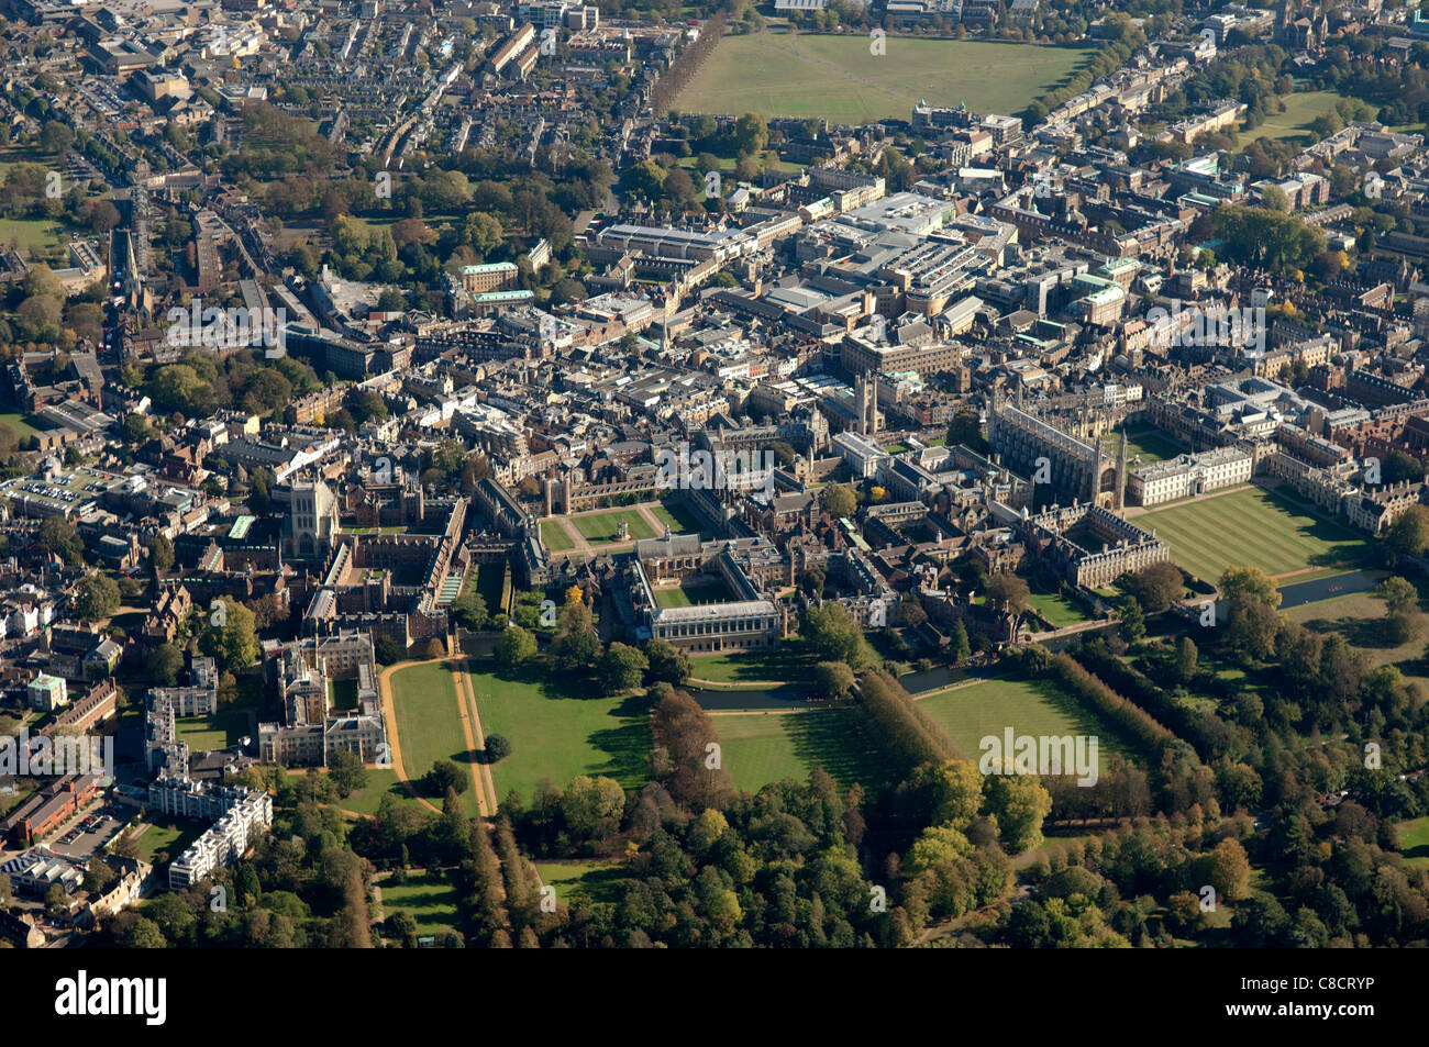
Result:
{"label": "striped mown lawn in front of the long white building beside the chapel", "polygon": [[1363,538],[1260,487],[1157,509],[1135,521],[1155,527],[1170,543],[1172,560],[1206,581],[1235,566],[1270,576],[1358,567],[1365,554]]}

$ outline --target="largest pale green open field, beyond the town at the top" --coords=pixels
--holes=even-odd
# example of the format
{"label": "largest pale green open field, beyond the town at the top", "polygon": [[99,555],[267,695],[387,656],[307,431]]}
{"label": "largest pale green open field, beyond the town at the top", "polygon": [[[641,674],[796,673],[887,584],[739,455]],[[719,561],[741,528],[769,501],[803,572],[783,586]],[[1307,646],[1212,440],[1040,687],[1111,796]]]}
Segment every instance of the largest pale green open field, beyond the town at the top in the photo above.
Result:
{"label": "largest pale green open field, beyond the town at the top", "polygon": [[966,103],[977,113],[1017,113],[1092,54],[979,40],[889,36],[885,43],[885,54],[870,54],[867,34],[726,36],[674,107],[835,123],[906,120],[919,99],[935,106]]}

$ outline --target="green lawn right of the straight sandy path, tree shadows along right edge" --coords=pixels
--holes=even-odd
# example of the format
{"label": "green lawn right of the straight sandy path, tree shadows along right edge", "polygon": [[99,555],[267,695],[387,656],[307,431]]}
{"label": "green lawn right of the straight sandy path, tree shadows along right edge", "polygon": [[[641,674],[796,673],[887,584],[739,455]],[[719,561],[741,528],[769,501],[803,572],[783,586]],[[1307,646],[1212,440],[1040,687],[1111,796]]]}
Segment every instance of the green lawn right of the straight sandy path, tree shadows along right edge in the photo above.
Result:
{"label": "green lawn right of the straight sandy path, tree shadows along right edge", "polygon": [[472,673],[482,730],[512,743],[512,754],[492,767],[497,800],[514,788],[529,803],[542,778],[564,787],[577,774],[603,774],[626,788],[644,784],[644,698],[596,697],[593,687],[564,690],[562,683],[536,673],[516,680]]}

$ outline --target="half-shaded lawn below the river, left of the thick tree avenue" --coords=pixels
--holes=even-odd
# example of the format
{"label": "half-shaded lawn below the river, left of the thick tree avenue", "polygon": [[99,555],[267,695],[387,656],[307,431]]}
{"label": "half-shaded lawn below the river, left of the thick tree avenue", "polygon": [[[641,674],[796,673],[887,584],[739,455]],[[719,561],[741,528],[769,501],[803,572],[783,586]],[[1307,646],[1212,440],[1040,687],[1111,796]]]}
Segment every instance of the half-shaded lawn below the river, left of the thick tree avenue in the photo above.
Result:
{"label": "half-shaded lawn below the river, left of the thick tree avenue", "polygon": [[805,713],[740,713],[712,717],[720,757],[736,788],[757,793],[770,781],[807,781],[822,767],[847,788],[877,791],[887,771],[877,741],[856,708]]}

